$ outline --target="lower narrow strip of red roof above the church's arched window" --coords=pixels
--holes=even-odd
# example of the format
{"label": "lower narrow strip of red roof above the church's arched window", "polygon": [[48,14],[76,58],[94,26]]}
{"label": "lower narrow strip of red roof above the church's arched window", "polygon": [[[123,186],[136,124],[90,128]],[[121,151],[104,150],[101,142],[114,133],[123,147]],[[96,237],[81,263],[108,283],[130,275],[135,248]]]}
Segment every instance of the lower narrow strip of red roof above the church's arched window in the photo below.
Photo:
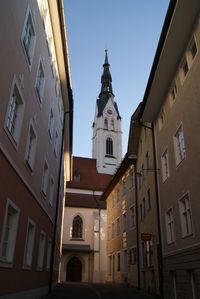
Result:
{"label": "lower narrow strip of red roof above the church's arched window", "polygon": [[65,197],[66,207],[81,207],[93,209],[106,209],[106,202],[99,201],[100,196],[78,193],[67,193]]}

